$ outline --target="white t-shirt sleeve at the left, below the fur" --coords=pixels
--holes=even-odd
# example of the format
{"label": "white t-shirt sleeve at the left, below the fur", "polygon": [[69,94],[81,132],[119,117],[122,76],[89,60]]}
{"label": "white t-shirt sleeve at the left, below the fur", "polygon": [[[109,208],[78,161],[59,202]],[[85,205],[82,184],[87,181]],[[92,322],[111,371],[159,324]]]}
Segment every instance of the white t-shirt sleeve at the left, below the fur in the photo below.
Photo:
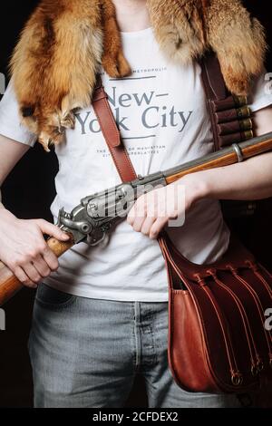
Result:
{"label": "white t-shirt sleeve at the left, below the fur", "polygon": [[37,140],[37,136],[21,122],[19,104],[15,96],[12,80],[8,83],[0,102],[0,134],[31,147],[34,146]]}

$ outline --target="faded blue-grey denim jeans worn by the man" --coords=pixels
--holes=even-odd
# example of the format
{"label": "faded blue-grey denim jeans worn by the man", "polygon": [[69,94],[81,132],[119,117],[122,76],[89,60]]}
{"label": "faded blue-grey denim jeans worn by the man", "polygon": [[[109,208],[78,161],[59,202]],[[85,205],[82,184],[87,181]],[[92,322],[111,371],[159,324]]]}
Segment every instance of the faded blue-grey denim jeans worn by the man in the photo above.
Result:
{"label": "faded blue-grey denim jeans worn by the man", "polygon": [[235,395],[190,393],[167,359],[168,303],[88,299],[38,287],[29,352],[34,406],[123,407],[136,373],[149,407],[238,407]]}

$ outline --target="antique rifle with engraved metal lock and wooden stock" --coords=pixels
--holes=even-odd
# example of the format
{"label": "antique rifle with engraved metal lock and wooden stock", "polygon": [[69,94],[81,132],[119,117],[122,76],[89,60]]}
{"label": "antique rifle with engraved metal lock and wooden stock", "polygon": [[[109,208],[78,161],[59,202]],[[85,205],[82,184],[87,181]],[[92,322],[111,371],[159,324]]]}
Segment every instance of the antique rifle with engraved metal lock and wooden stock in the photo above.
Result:
{"label": "antique rifle with engraved metal lock and wooden stock", "polygon": [[[58,226],[69,233],[70,240],[63,242],[51,237],[47,240],[47,244],[57,257],[81,242],[95,246],[107,235],[114,223],[127,215],[132,204],[143,193],[159,185],[169,185],[189,173],[228,166],[269,150],[272,150],[272,132],[238,144],[234,143],[228,148],[172,169],[153,173],[147,177],[139,176],[131,182],[83,198],[71,213],[66,213],[63,208],[59,212]],[[0,305],[4,305],[22,287],[12,271],[0,262]]]}

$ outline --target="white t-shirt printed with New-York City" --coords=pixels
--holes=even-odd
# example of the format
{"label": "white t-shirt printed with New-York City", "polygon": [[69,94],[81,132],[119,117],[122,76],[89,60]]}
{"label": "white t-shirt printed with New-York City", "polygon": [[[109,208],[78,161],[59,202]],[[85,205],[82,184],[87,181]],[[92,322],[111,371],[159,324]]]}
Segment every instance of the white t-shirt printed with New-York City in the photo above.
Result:
{"label": "white t-shirt printed with New-York City", "polygon": [[[170,63],[155,41],[152,29],[122,33],[132,75],[112,79],[102,72],[113,114],[132,164],[142,176],[196,159],[213,150],[206,98],[198,63]],[[252,111],[272,103],[257,82]],[[12,84],[0,104],[0,133],[25,144],[34,135],[18,116]],[[71,211],[80,199],[121,182],[92,106],[79,111],[74,130],[56,147],[59,172],[52,212]],[[44,154],[45,155],[45,154]],[[190,261],[210,263],[228,248],[229,231],[219,202],[200,201],[183,227],[170,228],[170,237]],[[157,241],[136,233],[124,220],[98,247],[81,243],[60,258],[60,268],[44,282],[74,295],[121,300],[168,300],[164,261]]]}

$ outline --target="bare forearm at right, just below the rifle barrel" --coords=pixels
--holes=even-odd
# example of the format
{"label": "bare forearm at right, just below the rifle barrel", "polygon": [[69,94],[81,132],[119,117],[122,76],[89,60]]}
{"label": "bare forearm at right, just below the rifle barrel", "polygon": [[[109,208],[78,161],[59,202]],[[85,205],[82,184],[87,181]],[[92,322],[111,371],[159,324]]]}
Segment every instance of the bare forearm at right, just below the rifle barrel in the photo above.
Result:
{"label": "bare forearm at right, just below the rifle barrel", "polygon": [[203,170],[201,198],[262,199],[272,197],[272,152],[219,169]]}

